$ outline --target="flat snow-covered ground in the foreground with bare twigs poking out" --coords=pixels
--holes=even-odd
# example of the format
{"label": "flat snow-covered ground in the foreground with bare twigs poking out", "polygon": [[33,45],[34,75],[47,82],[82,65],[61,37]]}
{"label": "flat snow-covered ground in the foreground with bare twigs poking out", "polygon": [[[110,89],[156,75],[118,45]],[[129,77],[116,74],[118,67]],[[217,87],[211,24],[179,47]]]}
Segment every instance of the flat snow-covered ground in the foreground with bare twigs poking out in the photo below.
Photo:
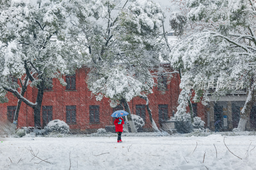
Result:
{"label": "flat snow-covered ground in the foreground with bare twigs poking out", "polygon": [[[206,137],[127,136],[122,137],[123,143],[116,143],[116,137],[8,137],[0,140],[3,139],[0,142],[1,170],[64,170],[69,169],[70,162],[70,170],[256,169],[256,136],[253,135],[225,137],[228,149],[241,159],[228,151],[223,142],[224,136],[220,134]],[[213,144],[216,146],[217,158]],[[39,151],[38,158],[49,158],[45,161],[50,163],[40,162],[38,158],[32,159],[28,150],[30,147],[35,154]],[[127,147],[130,147],[129,152]]]}

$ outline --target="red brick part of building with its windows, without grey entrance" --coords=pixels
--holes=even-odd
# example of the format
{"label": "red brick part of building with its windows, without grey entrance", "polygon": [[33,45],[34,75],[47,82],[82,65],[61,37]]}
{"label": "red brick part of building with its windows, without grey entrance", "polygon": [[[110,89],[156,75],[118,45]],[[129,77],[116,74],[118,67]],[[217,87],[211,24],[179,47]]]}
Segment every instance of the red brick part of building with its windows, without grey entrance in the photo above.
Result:
{"label": "red brick part of building with its windows, without grey entrance", "polygon": [[[87,88],[86,76],[87,70],[81,68],[76,70],[75,75],[64,78],[68,84],[67,86],[60,85],[58,79],[52,80],[52,89],[45,89],[44,91],[40,114],[41,126],[45,126],[51,120],[60,119],[67,122],[70,129],[90,133],[96,131],[96,129],[114,125],[113,118],[110,115],[115,111],[115,108],[110,107],[108,98],[96,101],[94,95]],[[171,83],[166,85],[165,94],[154,87],[153,93],[148,95],[149,107],[158,127],[161,119],[169,119],[173,111],[177,111],[180,93],[179,84],[179,74],[174,73]],[[24,97],[35,102],[36,96],[37,89],[28,86]],[[0,104],[0,117],[12,122],[18,100],[10,92],[8,92],[7,97],[9,102]],[[139,97],[135,97],[129,102],[132,114],[140,115],[144,119],[145,126],[143,128],[148,131],[152,129],[152,125],[145,104],[145,100]],[[205,107],[201,103],[193,105],[196,116],[205,121]],[[17,127],[33,127],[33,113],[34,110],[22,102]]]}

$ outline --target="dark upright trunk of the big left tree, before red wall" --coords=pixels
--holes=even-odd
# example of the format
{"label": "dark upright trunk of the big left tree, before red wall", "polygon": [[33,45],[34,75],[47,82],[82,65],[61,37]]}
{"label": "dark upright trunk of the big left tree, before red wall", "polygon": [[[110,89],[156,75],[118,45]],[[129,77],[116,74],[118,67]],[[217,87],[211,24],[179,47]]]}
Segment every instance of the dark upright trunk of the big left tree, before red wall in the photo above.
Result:
{"label": "dark upright trunk of the big left tree, before red wall", "polygon": [[44,95],[44,83],[41,83],[41,85],[37,86],[38,92],[37,92],[37,97],[36,97],[36,106],[34,108],[34,123],[35,127],[41,127],[41,105],[42,105],[42,100],[43,100],[43,95]]}

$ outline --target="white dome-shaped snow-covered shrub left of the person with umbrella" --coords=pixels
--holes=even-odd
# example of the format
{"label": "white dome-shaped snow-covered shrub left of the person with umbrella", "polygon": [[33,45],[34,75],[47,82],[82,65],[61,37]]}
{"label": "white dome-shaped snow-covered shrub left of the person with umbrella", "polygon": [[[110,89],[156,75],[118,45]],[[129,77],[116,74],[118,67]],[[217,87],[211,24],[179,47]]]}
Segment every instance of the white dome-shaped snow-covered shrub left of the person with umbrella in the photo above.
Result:
{"label": "white dome-shaped snow-covered shrub left of the person with umbrella", "polygon": [[69,126],[64,121],[61,121],[59,119],[53,120],[47,124],[47,126],[44,128],[48,132],[57,131],[59,133],[67,134],[69,132]]}

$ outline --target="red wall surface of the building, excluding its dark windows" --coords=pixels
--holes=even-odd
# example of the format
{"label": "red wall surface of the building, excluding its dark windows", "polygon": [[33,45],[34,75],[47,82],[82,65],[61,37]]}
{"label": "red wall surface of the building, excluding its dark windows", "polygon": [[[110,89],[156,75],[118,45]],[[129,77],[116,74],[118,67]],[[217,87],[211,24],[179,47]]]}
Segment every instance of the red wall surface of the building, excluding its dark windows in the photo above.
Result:
{"label": "red wall surface of the building, excluding its dark windows", "polygon": [[[171,70],[173,71],[173,70]],[[113,125],[112,108],[109,106],[107,98],[103,98],[101,101],[96,101],[95,97],[88,90],[85,83],[86,79],[86,69],[82,68],[76,71],[76,91],[67,91],[65,86],[60,85],[58,79],[53,79],[52,91],[45,91],[42,106],[52,106],[53,116],[52,119],[60,119],[66,122],[66,106],[76,105],[76,124],[70,124],[70,129],[98,129],[105,128],[105,126]],[[64,78],[65,80],[65,78]],[[149,107],[152,110],[152,116],[154,121],[158,124],[158,105],[167,104],[168,105],[168,116],[172,116],[172,110],[177,111],[178,97],[180,93],[179,88],[180,78],[179,74],[173,74],[171,83],[167,85],[167,90],[165,94],[157,90],[154,87],[153,93],[148,95]],[[35,102],[37,95],[37,89],[28,86],[28,90],[24,97],[28,100]],[[7,97],[9,99],[8,103],[0,104],[0,117],[7,119],[7,106],[16,106],[17,98],[8,92]],[[137,104],[146,104],[146,101],[140,99],[139,97],[133,98],[129,102],[131,112],[135,114]],[[89,105],[100,105],[100,123],[92,124],[89,122]],[[42,109],[41,109],[41,125],[42,121]],[[18,120],[17,127],[27,127],[34,126],[34,115],[33,109],[28,107],[22,102]],[[152,125],[149,120],[148,112],[146,110],[146,124],[144,128],[151,128]]]}

